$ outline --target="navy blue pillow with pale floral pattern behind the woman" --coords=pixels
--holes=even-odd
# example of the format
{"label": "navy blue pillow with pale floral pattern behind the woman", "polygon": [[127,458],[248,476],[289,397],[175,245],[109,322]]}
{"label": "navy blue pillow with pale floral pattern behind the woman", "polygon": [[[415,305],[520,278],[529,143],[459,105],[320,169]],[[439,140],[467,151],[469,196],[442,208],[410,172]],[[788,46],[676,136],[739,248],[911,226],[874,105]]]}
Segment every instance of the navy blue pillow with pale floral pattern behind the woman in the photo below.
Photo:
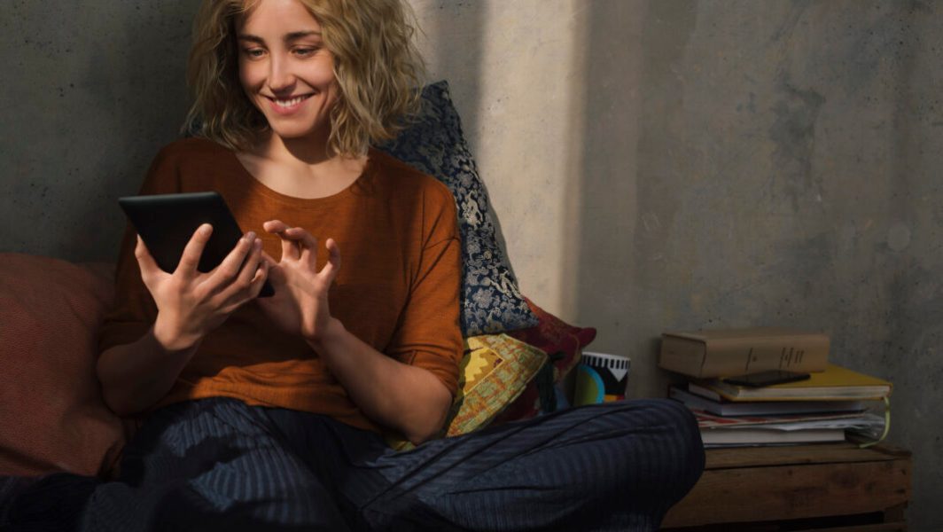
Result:
{"label": "navy blue pillow with pale floral pattern behind the woman", "polygon": [[379,149],[433,175],[455,194],[462,235],[464,336],[497,334],[537,324],[495,239],[488,193],[462,135],[449,85],[422,90],[422,110],[399,137]]}

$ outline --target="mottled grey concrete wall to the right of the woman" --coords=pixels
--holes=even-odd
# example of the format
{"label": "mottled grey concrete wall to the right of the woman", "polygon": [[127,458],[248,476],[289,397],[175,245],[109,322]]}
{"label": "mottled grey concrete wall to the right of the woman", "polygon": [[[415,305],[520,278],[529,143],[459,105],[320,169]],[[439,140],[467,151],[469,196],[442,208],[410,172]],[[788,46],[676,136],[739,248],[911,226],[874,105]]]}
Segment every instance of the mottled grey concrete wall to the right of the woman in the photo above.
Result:
{"label": "mottled grey concrete wall to the right of the woman", "polygon": [[525,293],[636,396],[664,330],[829,333],[894,382],[910,523],[943,528],[943,6],[415,4]]}

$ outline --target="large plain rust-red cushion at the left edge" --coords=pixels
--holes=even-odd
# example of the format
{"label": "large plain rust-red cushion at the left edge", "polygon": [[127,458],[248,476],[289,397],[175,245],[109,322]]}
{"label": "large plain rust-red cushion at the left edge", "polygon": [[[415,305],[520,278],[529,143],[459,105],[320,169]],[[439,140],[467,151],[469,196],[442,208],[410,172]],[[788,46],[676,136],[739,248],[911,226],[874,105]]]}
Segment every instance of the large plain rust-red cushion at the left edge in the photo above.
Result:
{"label": "large plain rust-red cushion at the left edge", "polygon": [[95,374],[111,270],[0,253],[0,474],[99,474],[124,445]]}

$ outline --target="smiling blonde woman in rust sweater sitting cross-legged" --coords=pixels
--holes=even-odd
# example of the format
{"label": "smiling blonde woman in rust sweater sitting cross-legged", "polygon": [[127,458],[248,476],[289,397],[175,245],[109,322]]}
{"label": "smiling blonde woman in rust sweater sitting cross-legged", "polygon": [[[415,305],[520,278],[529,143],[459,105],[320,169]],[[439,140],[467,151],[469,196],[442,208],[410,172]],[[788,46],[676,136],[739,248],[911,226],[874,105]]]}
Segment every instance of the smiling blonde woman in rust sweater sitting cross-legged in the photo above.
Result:
{"label": "smiling blonde woman in rust sweater sitting cross-legged", "polygon": [[195,29],[202,125],[141,192],[220,191],[249,232],[207,274],[211,227],[173,274],[126,235],[98,374],[145,421],[85,485],[84,529],[657,528],[703,468],[684,407],[435,438],[462,357],[455,202],[368,147],[415,104],[399,0],[206,0]]}

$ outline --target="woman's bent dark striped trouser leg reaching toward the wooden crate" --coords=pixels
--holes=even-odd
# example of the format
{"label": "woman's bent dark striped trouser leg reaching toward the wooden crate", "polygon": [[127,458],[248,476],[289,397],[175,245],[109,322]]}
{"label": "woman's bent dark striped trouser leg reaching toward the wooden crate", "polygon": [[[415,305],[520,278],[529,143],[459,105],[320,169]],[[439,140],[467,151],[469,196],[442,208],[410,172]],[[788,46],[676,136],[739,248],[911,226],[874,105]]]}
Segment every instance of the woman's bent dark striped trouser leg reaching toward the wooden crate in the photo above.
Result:
{"label": "woman's bent dark striped trouser leg reaching toward the wooden crate", "polygon": [[361,509],[391,531],[656,530],[703,460],[678,403],[577,407],[380,457]]}

